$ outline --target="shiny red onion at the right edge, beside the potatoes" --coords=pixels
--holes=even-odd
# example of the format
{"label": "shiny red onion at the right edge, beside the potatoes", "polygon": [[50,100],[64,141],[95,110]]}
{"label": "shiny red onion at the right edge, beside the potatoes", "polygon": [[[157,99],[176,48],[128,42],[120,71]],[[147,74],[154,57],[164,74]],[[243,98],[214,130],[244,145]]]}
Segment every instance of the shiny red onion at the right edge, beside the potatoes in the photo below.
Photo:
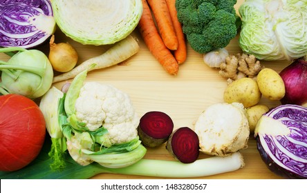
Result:
{"label": "shiny red onion at the right edge, beside the potatoes", "polygon": [[295,59],[279,73],[286,87],[286,94],[281,99],[282,104],[295,104],[307,107],[306,57]]}

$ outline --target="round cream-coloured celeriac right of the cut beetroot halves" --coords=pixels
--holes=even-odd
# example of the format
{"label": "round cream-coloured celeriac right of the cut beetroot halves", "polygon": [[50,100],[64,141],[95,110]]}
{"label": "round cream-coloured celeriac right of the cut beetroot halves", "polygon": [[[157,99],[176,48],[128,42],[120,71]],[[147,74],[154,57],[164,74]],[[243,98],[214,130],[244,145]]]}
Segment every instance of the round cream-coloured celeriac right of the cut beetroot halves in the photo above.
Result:
{"label": "round cream-coloured celeriac right of the cut beetroot halves", "polygon": [[241,103],[210,105],[196,121],[201,152],[227,156],[248,147],[250,129]]}

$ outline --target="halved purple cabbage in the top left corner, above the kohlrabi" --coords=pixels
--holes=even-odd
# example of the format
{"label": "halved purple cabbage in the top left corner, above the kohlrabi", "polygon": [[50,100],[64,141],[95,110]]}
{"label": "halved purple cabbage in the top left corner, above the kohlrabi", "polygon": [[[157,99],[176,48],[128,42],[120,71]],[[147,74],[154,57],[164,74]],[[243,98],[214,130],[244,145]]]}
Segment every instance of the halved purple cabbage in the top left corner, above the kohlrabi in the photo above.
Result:
{"label": "halved purple cabbage in the top left corner, above the kohlrabi", "polygon": [[34,48],[55,26],[49,0],[0,0],[0,47]]}

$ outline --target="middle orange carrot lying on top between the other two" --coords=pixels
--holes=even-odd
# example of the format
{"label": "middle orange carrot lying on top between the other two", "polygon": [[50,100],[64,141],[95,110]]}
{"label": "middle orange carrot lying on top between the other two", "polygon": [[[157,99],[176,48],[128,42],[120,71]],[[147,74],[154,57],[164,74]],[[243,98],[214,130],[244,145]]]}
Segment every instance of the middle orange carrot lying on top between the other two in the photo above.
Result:
{"label": "middle orange carrot lying on top between the other two", "polygon": [[154,19],[158,26],[158,30],[169,50],[177,50],[178,39],[174,30],[173,23],[171,23],[171,16],[169,15],[169,9],[165,0],[147,0],[151,11],[154,14]]}

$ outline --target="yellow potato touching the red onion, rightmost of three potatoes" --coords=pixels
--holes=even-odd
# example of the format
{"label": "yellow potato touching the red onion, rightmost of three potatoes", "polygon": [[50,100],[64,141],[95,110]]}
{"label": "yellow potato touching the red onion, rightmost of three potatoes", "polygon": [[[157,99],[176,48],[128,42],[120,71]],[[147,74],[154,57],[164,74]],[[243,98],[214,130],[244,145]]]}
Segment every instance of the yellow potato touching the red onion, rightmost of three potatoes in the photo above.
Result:
{"label": "yellow potato touching the red onion, rightmost of three potatoes", "polygon": [[286,94],[283,79],[275,70],[270,68],[263,68],[259,72],[257,83],[261,94],[270,101],[279,101]]}

